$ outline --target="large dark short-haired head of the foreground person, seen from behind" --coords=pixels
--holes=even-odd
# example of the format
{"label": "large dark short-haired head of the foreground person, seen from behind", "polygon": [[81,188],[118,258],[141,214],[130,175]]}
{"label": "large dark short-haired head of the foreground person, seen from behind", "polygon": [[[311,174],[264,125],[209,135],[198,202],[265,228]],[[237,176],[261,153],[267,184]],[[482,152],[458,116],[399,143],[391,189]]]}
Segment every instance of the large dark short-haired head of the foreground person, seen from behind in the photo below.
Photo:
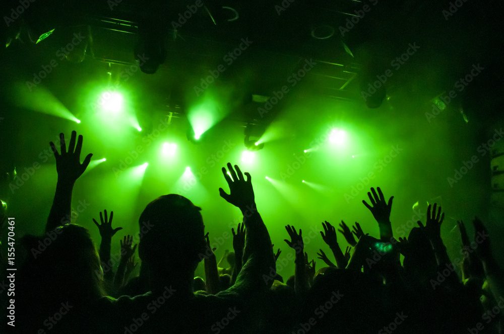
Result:
{"label": "large dark short-haired head of the foreground person, seen from behind", "polygon": [[140,259],[151,271],[194,272],[205,253],[205,226],[187,198],[170,194],[149,203],[140,215]]}

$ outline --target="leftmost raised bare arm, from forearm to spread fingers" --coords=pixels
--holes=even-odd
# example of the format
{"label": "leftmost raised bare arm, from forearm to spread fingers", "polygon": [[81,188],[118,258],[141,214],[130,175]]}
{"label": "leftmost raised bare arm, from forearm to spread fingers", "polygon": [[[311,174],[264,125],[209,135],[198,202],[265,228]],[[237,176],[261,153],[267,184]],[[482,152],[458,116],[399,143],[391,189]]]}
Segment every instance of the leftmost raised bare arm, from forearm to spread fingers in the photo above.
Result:
{"label": "leftmost raised bare arm, from forearm to spread fingers", "polygon": [[82,135],[79,135],[77,145],[75,143],[76,138],[77,132],[72,131],[67,151],[65,135],[60,133],[59,153],[54,143],[52,141],[49,143],[56,159],[58,180],[51,211],[49,212],[49,217],[45,226],[46,232],[71,222],[72,191],[74,189],[74,184],[86,170],[89,162],[91,161],[91,156],[93,155],[91,153],[88,154],[84,158],[84,162],[81,163]]}

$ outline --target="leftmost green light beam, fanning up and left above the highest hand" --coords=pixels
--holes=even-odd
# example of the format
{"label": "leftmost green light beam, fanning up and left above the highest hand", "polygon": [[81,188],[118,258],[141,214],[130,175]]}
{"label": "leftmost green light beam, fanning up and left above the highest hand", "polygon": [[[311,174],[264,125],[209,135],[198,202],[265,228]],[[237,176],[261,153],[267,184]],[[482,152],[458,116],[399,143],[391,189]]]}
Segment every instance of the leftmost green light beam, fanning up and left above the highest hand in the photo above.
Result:
{"label": "leftmost green light beam, fanning up and left above the highest hand", "polygon": [[5,96],[17,107],[80,123],[80,120],[43,86],[29,89],[25,84],[18,83],[13,86],[13,90],[9,92],[13,94],[5,94]]}

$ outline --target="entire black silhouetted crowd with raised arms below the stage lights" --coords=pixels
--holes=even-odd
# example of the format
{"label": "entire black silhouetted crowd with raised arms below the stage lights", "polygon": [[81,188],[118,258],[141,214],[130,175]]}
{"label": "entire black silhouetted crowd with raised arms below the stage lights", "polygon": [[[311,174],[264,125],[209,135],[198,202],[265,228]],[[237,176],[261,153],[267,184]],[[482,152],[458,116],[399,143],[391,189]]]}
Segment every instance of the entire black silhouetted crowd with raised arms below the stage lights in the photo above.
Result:
{"label": "entire black silhouetted crowd with raised arms below the stage lights", "polygon": [[[120,240],[120,259],[111,259],[113,212],[100,212],[97,250],[86,228],[70,223],[72,191],[90,162],[80,162],[82,136],[72,132],[60,149],[50,143],[58,180],[43,236],[27,235],[29,256],[19,271],[16,331],[22,333],[501,333],[504,285],[492,256],[490,237],[477,218],[474,241],[458,222],[462,259],[450,260],[440,236],[445,214],[427,208],[407,238],[393,236],[393,197],[370,189],[369,209],[379,238],[358,223],[342,221],[339,232],[350,244],[343,253],[336,227],[322,223],[322,241],[335,263],[316,271],[304,252],[302,231],[287,225],[295,270],[285,283],[276,273],[268,230],[255,202],[248,173],[227,164],[229,193],[220,195],[239,208],[243,222],[232,229],[233,250],[217,263],[205,233],[200,207],[169,194],[147,205],[139,217],[138,244]],[[229,173],[229,174],[228,174]],[[0,223],[6,222],[4,208]],[[49,240],[49,241],[47,241]],[[40,250],[39,245],[44,244]],[[404,256],[401,264],[400,256]],[[195,277],[204,261],[205,278]],[[228,268],[225,264],[229,265]],[[457,269],[462,269],[462,279]],[[288,276],[285,276],[288,277]],[[3,304],[7,302],[4,301]]]}

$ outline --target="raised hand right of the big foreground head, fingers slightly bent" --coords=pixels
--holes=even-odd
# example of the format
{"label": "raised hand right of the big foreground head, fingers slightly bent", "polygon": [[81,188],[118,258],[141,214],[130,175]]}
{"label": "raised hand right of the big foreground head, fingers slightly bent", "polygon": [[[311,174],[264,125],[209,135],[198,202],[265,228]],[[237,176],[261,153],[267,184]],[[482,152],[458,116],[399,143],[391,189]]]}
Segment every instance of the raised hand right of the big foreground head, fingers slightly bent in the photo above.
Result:
{"label": "raised hand right of the big foreground head, fingers slightly bent", "polygon": [[247,207],[250,208],[254,206],[254,189],[252,188],[250,174],[245,173],[245,176],[247,177],[245,181],[238,165],[234,165],[236,172],[233,170],[233,166],[229,162],[227,163],[227,168],[229,169],[231,177],[229,177],[224,167],[222,168],[222,174],[229,185],[230,193],[227,194],[224,189],[219,188],[220,196],[232,205],[240,208],[242,211],[246,210]]}

